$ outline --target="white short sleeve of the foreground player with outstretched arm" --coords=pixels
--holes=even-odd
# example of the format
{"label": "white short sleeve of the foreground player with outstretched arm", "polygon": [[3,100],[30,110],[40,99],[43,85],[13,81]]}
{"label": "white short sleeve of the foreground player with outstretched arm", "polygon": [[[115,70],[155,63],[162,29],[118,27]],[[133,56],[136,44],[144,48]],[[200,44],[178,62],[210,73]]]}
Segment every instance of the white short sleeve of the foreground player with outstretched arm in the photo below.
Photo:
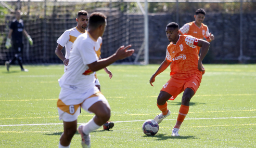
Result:
{"label": "white short sleeve of the foreground player with outstretched arm", "polygon": [[91,64],[98,60],[97,54],[93,47],[93,44],[89,42],[84,42],[79,47],[79,52],[85,65]]}

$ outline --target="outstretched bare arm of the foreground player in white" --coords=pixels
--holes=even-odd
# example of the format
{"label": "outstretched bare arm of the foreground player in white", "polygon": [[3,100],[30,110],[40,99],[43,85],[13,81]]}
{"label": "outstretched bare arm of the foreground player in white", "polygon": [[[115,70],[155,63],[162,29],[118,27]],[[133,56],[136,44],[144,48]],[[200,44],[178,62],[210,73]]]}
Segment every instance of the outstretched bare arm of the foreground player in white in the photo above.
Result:
{"label": "outstretched bare arm of the foreground player in white", "polygon": [[[105,58],[105,59],[95,61],[91,64],[88,64],[89,69],[93,72],[96,72],[98,70],[106,68],[106,66],[112,64],[113,62],[115,62],[117,60],[122,60],[122,59],[132,56],[134,49],[129,49],[130,47],[132,47],[132,45],[128,45],[126,47],[124,47],[124,46],[119,47],[118,50],[116,51],[116,53],[114,53],[112,56]],[[129,50],[127,50],[127,49],[129,49]]]}

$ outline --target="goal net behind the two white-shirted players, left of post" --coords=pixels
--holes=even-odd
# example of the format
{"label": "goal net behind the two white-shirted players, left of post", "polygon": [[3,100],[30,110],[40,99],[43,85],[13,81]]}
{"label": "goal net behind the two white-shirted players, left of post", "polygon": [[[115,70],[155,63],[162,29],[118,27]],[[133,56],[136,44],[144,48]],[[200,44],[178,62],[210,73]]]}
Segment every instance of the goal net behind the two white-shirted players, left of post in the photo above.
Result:
{"label": "goal net behind the two white-shirted players, left of post", "polygon": [[[18,6],[17,6],[18,5]],[[111,56],[122,45],[132,44],[133,56],[118,62],[144,63],[144,16],[136,2],[54,2],[21,1],[0,3],[0,64],[14,57],[12,48],[6,49],[5,42],[10,22],[15,19],[13,11],[20,8],[24,29],[33,39],[29,45],[23,37],[23,63],[62,63],[55,55],[57,39],[63,32],[74,28],[76,15],[80,10],[89,14],[103,12],[107,16],[107,26],[103,35],[101,57]],[[12,13],[12,14],[11,14]],[[62,49],[65,54],[65,48]]]}

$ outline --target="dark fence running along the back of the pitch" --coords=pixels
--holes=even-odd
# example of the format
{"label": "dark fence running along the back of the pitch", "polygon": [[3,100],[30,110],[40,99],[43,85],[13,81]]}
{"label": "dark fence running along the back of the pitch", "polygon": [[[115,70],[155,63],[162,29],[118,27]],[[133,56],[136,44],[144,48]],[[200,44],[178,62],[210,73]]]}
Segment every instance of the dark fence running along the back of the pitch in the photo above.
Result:
{"label": "dark fence running along the back of the pitch", "polygon": [[[12,49],[5,48],[10,22],[14,19],[11,11],[22,11],[25,30],[34,41],[29,46],[24,37],[23,59],[25,64],[61,63],[55,55],[58,37],[76,26],[76,14],[86,10],[104,12],[108,25],[103,36],[101,56],[112,55],[121,45],[132,44],[134,56],[125,59],[133,62],[139,49],[143,48],[144,15],[138,3],[144,1],[2,1],[0,2],[0,64],[14,56]],[[214,34],[210,50],[204,63],[236,63],[242,56],[244,62],[256,61],[256,2],[255,1],[149,1],[149,62],[164,60],[169,44],[165,36],[165,26],[177,22],[180,27],[195,21],[198,8],[206,10],[204,24]],[[218,2],[218,3],[216,3]],[[241,5],[242,4],[242,5]],[[241,13],[242,12],[242,13]],[[242,20],[242,21],[240,21]],[[241,25],[240,25],[241,24]],[[241,39],[241,41],[240,41]],[[241,46],[241,47],[240,47]],[[65,53],[65,50],[62,50]],[[140,50],[138,61],[144,60],[144,50]]]}

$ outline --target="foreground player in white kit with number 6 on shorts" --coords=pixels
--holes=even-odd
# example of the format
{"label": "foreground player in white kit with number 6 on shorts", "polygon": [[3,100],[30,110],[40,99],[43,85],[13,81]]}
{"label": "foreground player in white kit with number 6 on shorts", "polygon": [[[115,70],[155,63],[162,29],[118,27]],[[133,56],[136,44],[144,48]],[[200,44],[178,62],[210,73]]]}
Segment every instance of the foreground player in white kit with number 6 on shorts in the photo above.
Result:
{"label": "foreground player in white kit with number 6 on shorts", "polygon": [[134,49],[121,46],[112,56],[99,60],[103,33],[107,25],[106,16],[94,12],[89,17],[86,33],[74,42],[70,52],[66,72],[59,79],[61,87],[57,102],[59,119],[63,120],[63,133],[59,147],[70,147],[77,128],[80,107],[95,116],[78,128],[82,137],[82,146],[91,147],[90,132],[104,125],[110,118],[110,106],[106,98],[95,86],[94,72],[105,68],[117,60],[132,56]]}

